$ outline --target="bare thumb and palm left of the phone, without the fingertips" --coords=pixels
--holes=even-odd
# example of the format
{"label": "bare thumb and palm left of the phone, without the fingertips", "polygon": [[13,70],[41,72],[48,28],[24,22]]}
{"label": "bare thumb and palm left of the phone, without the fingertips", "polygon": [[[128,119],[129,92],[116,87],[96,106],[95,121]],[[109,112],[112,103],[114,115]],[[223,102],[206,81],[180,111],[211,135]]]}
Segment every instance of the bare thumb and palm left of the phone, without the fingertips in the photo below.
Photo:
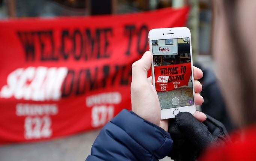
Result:
{"label": "bare thumb and palm left of the phone, without the fingertips", "polygon": [[151,67],[152,54],[147,51],[132,65],[131,107],[132,111],[143,119],[160,125],[161,107],[157,91],[152,85],[148,70]]}

